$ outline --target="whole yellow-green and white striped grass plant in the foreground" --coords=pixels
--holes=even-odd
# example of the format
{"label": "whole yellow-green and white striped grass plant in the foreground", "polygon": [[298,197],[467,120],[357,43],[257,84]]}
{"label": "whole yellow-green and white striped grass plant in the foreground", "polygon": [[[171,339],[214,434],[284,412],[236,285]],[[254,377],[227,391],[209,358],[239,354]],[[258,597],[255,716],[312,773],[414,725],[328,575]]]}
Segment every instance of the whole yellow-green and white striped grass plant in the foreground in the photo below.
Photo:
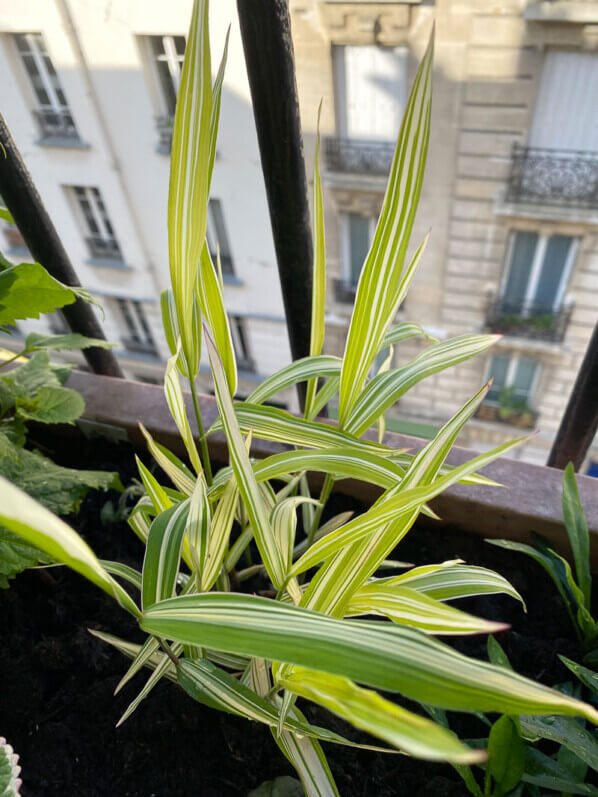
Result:
{"label": "whole yellow-green and white striped grass plant in the foreground", "polygon": [[[139,462],[146,494],[129,524],[146,546],[141,572],[99,561],[61,520],[15,486],[0,483],[0,522],[112,595],[146,632],[143,645],[94,632],[133,659],[117,690],[143,667],[152,671],[120,722],[161,678],[170,678],[200,703],[268,725],[308,795],[338,794],[320,743],[353,743],[313,725],[298,707],[298,697],[377,737],[390,752],[459,766],[483,761],[484,751],[470,749],[445,727],[374,690],[455,711],[598,720],[589,705],[434,639],[504,628],[450,605],[456,598],[488,593],[521,600],[500,575],[460,561],[385,575],[389,555],[419,514],[434,515],[429,501],[457,482],[488,484],[477,472],[521,442],[505,443],[459,467],[445,464],[487,385],[418,454],[382,442],[384,414],[409,388],[485,351],[495,340],[465,335],[438,342],[415,323],[392,326],[426,246],[424,240],[407,260],[430,130],[432,54],[430,41],[361,273],[344,356],[322,354],[325,246],[316,153],[310,355],[267,379],[246,402],[234,403],[236,365],[222,277],[205,244],[225,57],[212,84],[208,2],[196,0],[173,134],[168,201],[172,290],[162,297],[172,350],[166,399],[191,467],[142,427],[150,453],[172,486]],[[229,467],[215,477],[195,391],[202,320],[220,411],[212,429],[224,429],[230,458]],[[370,377],[380,352],[393,346],[400,350],[413,337],[429,343],[421,354],[398,368],[391,367],[389,355]],[[193,394],[199,452],[180,375]],[[303,417],[264,406],[266,399],[299,381],[307,381]],[[338,426],[314,421],[337,393]],[[378,442],[364,439],[376,423]],[[252,436],[290,443],[292,449],[255,461]],[[317,498],[310,493],[310,472],[324,474]],[[377,485],[382,495],[357,517],[344,513],[322,524],[334,482],[344,478]],[[260,557],[253,565],[244,561],[250,549]],[[269,581],[275,599],[241,591],[239,585],[258,572]],[[390,622],[354,619],[371,615]]]}

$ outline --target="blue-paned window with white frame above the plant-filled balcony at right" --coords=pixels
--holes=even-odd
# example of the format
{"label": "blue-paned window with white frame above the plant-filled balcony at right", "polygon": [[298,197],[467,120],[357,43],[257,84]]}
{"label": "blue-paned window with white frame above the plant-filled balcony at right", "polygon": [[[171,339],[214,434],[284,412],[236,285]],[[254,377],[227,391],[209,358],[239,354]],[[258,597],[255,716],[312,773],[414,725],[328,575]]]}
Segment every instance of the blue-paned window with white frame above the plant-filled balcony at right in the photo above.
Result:
{"label": "blue-paned window with white frame above the plant-filled balcony at right", "polygon": [[569,235],[513,233],[501,296],[502,312],[523,316],[557,312],[575,249],[576,239]]}

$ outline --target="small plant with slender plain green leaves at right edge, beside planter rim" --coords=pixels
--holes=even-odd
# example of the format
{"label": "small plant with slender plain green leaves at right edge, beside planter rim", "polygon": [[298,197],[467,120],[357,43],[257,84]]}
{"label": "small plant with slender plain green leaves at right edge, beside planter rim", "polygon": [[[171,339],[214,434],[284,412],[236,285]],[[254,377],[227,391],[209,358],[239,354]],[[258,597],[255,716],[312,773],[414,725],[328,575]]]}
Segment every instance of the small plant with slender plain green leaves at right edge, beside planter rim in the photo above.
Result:
{"label": "small plant with slender plain green leaves at right edge, beside planter rim", "polygon": [[571,463],[563,473],[563,519],[573,554],[573,569],[569,562],[539,534],[534,535],[533,547],[510,540],[487,540],[487,542],[525,553],[546,570],[554,581],[571,618],[585,653],[584,660],[595,666],[598,663],[598,626],[592,616],[591,606],[590,535],[575,481],[575,470]]}

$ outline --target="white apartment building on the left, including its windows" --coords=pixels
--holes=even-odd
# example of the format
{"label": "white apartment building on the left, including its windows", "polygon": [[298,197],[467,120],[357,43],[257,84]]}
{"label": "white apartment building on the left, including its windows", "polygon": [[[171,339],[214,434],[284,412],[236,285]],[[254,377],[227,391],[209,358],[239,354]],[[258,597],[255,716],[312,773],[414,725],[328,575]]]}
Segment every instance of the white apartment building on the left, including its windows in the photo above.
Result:
{"label": "white apartment building on the left, including its windows", "polygon": [[[191,8],[0,0],[1,111],[133,379],[161,381],[169,356],[159,296],[169,285],[169,154]],[[207,237],[220,250],[243,396],[290,349],[234,0],[212,2],[210,15],[214,72],[232,28]],[[6,224],[0,249],[28,257]],[[64,321],[58,313],[21,327],[56,332]],[[207,356],[202,379],[209,390]]]}

